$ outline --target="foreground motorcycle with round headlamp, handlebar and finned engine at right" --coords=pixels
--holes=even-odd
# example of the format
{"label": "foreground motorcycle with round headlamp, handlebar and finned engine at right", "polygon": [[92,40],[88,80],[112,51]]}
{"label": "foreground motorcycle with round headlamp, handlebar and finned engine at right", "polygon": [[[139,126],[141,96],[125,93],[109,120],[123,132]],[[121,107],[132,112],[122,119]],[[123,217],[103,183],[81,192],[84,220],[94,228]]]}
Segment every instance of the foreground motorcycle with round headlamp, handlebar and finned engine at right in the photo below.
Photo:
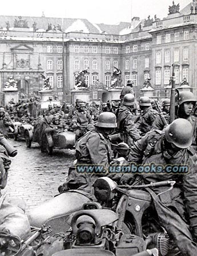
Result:
{"label": "foreground motorcycle with round headlamp, handlebar and finned engine at right", "polygon": [[[159,255],[175,255],[173,242],[156,218],[150,193],[142,190],[169,185],[171,190],[174,184],[174,181],[166,181],[141,186],[117,186],[111,179],[102,177],[94,183],[94,194],[102,206],[111,208],[118,214],[117,229],[134,235],[138,246],[142,246],[143,250],[156,247]],[[103,190],[106,197],[103,197]],[[126,241],[124,238],[124,243]]]}

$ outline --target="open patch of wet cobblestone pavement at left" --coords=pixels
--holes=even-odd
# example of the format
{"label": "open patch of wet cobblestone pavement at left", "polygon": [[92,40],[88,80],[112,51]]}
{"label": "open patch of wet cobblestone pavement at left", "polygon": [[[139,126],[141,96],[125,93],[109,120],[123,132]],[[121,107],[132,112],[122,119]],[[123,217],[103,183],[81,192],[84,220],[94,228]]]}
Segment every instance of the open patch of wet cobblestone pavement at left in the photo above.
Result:
{"label": "open patch of wet cobblestone pavement at left", "polygon": [[41,153],[38,144],[27,148],[25,141],[10,140],[18,150],[11,157],[11,168],[7,186],[2,192],[7,196],[18,196],[25,200],[27,212],[58,194],[73,163],[75,151],[70,149],[54,150],[53,156]]}

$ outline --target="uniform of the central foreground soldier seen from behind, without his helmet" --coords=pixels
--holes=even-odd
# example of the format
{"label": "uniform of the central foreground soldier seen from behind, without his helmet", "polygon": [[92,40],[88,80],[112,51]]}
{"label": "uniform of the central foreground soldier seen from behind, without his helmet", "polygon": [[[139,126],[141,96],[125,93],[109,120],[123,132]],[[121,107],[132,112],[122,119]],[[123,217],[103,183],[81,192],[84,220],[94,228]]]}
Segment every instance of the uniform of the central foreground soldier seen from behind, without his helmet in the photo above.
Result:
{"label": "uniform of the central foreground soldier seen from behind, without his helmet", "polygon": [[[110,140],[99,132],[98,129],[87,132],[76,146],[77,165],[93,164],[95,166],[104,166],[108,168],[111,162],[112,151]],[[78,174],[73,170],[67,178],[67,186],[69,188],[79,188],[86,192],[91,192],[92,184],[99,176],[105,174]]]}

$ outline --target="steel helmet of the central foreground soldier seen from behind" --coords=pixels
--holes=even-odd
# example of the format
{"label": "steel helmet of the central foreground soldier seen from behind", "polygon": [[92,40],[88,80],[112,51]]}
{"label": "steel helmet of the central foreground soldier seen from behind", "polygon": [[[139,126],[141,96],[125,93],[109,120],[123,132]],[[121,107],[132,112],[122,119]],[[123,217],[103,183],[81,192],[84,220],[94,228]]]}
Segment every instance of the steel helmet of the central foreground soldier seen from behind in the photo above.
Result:
{"label": "steel helmet of the central foreground soldier seen from behind", "polygon": [[116,116],[111,112],[103,112],[98,116],[98,122],[95,124],[97,127],[103,128],[116,128]]}

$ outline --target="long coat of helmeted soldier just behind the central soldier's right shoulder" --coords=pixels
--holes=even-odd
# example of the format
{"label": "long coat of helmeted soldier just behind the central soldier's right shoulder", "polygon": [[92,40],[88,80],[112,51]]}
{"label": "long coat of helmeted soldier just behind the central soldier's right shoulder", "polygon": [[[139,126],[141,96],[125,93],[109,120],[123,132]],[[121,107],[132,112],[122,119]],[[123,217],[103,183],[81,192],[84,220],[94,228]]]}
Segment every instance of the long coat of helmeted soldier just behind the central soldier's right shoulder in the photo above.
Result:
{"label": "long coat of helmeted soldier just behind the central soldier's right shoulder", "polygon": [[124,105],[119,108],[117,125],[118,132],[122,133],[123,141],[128,145],[141,138],[134,124],[134,115]]}

